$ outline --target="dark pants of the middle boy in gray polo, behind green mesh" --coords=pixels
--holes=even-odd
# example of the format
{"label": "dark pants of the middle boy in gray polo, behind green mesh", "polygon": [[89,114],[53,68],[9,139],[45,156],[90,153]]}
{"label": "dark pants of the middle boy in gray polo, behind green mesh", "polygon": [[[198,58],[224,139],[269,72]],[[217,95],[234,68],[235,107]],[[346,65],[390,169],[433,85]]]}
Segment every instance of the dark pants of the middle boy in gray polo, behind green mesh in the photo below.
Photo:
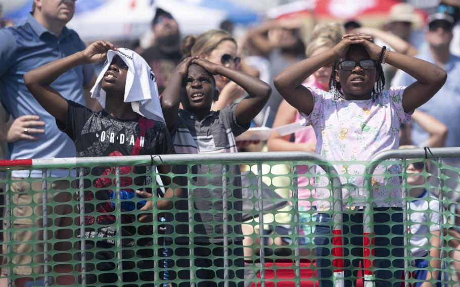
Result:
{"label": "dark pants of the middle boy in gray polo, behind green mesh", "polygon": [[[228,286],[243,287],[244,285],[244,256],[243,242],[228,243]],[[175,262],[168,260],[168,266],[175,266],[175,270],[168,270],[170,282],[174,287],[190,286],[190,271],[195,274],[198,281],[197,287],[217,287],[224,285],[223,269],[223,243],[196,242],[194,247],[194,266],[190,266],[191,250],[188,245],[184,247],[166,248],[169,256],[177,258]],[[160,249],[160,253],[162,253]],[[162,266],[160,266],[162,267]],[[177,283],[176,283],[177,282]],[[217,283],[218,282],[218,283]]]}

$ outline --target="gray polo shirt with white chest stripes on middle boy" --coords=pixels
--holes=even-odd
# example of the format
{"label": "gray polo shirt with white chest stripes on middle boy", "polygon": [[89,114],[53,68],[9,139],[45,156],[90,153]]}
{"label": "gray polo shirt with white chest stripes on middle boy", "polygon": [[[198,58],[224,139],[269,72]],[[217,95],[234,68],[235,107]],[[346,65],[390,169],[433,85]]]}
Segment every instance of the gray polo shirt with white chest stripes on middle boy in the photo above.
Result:
{"label": "gray polo shirt with white chest stripes on middle boy", "polygon": [[[238,104],[221,111],[211,111],[199,120],[196,115],[179,110],[176,126],[171,130],[174,149],[184,153],[234,153],[237,152],[235,136],[249,128],[238,125],[236,108]],[[193,200],[194,240],[196,242],[222,242],[224,235],[223,206],[226,203],[226,234],[234,240],[241,240],[242,194],[239,165],[197,164],[191,166],[189,192]],[[195,176],[196,175],[196,176]],[[190,177],[191,175],[189,175]],[[225,193],[223,192],[225,179]],[[225,195],[225,200],[223,199]],[[185,205],[185,206],[184,206]],[[178,209],[187,210],[187,203]],[[188,213],[176,214],[176,220],[188,222]],[[169,232],[168,232],[169,233]],[[175,227],[175,234],[188,234],[188,224]],[[176,237],[176,241],[178,241]]]}

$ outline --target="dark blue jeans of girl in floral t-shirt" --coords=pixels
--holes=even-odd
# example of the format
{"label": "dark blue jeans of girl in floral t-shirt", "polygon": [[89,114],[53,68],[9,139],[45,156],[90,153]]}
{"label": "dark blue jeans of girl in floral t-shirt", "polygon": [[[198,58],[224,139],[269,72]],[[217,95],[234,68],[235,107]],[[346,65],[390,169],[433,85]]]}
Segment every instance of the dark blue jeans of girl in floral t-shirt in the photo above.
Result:
{"label": "dark blue jeans of girl in floral t-shirt", "polygon": [[[398,236],[403,234],[404,229],[402,209],[374,208],[372,218],[374,239],[371,245],[366,245],[366,249],[371,249],[375,259],[366,269],[371,270],[376,277],[376,286],[399,287],[404,268],[404,241],[402,236]],[[364,260],[368,255],[364,255],[363,212],[350,210],[343,214],[343,268],[332,266],[333,247],[321,247],[332,246],[331,221],[330,215],[326,213],[318,213],[316,217],[319,224],[315,226],[314,234],[329,234],[327,237],[315,236],[313,239],[315,246],[318,246],[315,247],[315,254],[319,286],[334,286],[334,269],[345,269],[345,286],[356,285],[356,277],[364,274],[364,264],[370,263]]]}

